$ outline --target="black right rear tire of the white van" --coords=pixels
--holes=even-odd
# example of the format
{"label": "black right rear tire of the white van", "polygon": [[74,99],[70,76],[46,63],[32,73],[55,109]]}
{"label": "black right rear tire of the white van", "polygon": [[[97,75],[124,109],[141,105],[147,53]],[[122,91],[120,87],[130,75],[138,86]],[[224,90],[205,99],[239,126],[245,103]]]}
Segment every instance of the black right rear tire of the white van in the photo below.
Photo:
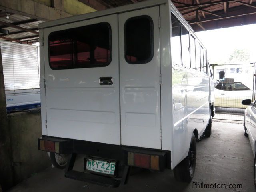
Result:
{"label": "black right rear tire of the white van", "polygon": [[177,181],[189,183],[196,170],[196,137],[191,137],[188,156],[174,168],[174,177]]}

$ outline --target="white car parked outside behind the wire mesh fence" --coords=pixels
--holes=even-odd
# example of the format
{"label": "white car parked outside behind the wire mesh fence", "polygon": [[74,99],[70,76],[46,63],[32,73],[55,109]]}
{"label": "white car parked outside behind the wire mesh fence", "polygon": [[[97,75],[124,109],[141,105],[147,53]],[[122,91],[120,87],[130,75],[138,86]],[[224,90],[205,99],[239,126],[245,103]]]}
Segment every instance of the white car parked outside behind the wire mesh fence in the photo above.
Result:
{"label": "white car parked outside behind the wire mesh fence", "polygon": [[241,102],[252,98],[252,90],[242,82],[215,83],[215,106],[228,108],[246,108]]}

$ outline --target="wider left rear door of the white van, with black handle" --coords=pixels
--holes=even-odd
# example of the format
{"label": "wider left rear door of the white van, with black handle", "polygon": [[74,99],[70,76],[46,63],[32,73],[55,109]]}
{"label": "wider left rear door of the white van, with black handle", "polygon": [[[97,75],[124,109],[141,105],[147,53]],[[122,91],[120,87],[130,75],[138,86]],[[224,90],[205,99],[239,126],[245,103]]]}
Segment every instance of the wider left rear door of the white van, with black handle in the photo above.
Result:
{"label": "wider left rear door of the white van, with black handle", "polygon": [[120,144],[117,14],[44,29],[48,136]]}

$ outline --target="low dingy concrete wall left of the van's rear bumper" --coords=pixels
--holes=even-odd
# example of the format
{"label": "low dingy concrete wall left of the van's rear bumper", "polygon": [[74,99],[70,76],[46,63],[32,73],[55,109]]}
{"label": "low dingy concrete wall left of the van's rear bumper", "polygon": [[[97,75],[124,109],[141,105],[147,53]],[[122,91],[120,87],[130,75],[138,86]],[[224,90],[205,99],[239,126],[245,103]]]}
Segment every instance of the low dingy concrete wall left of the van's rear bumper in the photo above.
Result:
{"label": "low dingy concrete wall left of the van's rear bumper", "polygon": [[8,114],[14,185],[51,166],[46,152],[38,150],[42,136],[40,111]]}

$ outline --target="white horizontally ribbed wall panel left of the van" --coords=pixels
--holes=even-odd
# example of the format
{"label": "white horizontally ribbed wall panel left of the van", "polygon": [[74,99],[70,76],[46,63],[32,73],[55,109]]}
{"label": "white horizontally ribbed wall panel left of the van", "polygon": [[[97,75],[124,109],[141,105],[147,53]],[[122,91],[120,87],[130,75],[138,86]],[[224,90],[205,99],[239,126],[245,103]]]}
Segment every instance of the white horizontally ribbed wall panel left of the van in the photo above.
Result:
{"label": "white horizontally ribbed wall panel left of the van", "polygon": [[5,90],[40,88],[37,47],[0,42]]}

